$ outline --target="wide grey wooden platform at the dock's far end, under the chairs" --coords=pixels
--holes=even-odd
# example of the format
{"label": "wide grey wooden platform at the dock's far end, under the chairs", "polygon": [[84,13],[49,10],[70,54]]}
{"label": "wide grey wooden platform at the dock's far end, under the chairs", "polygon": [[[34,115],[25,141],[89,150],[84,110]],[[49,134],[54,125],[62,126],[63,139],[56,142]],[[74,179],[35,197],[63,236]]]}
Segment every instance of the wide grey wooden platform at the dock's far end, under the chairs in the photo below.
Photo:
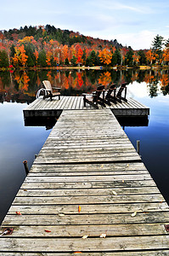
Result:
{"label": "wide grey wooden platform at the dock's far end, under the chairs", "polygon": [[[127,102],[116,102],[112,103],[111,106],[106,105],[107,109],[115,114],[115,116],[144,116],[149,115],[149,108],[136,100],[129,98]],[[35,116],[59,116],[63,110],[91,110],[94,109],[91,105],[87,104],[84,107],[82,96],[60,96],[60,100],[54,98],[51,102],[50,99],[43,100],[38,98],[32,102],[27,108],[24,109],[24,117],[35,117]],[[103,109],[99,105],[99,109]]]}

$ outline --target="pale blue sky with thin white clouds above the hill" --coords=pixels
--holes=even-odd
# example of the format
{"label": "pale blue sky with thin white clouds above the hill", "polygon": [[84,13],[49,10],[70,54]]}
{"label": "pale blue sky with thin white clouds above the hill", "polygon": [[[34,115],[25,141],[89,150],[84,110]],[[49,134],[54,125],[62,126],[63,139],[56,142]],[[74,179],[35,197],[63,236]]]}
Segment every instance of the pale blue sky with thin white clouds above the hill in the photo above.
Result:
{"label": "pale blue sky with thin white clouds above the hill", "polygon": [[168,0],[1,0],[0,30],[51,25],[84,36],[149,49],[169,38]]}

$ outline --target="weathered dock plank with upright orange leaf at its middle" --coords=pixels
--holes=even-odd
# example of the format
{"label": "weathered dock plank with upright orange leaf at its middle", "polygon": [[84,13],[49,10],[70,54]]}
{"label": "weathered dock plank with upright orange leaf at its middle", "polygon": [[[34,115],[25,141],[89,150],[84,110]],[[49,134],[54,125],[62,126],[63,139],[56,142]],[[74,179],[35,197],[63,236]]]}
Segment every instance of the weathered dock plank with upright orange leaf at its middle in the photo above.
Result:
{"label": "weathered dock plank with upright orange leaf at its middle", "polygon": [[[42,195],[43,196],[43,195]],[[21,214],[29,215],[29,214],[59,214],[60,212],[64,212],[65,214],[77,214],[78,213],[78,206],[79,204],[67,204],[66,207],[63,204],[60,205],[13,205],[10,207],[8,214],[15,215],[16,212],[20,211]],[[111,204],[107,203],[104,205],[101,204],[81,204],[81,214],[107,214],[107,213],[126,213],[130,212],[169,212],[169,207],[167,206],[166,202],[132,202],[132,203],[121,203],[119,204]],[[101,221],[100,221],[101,222]]]}

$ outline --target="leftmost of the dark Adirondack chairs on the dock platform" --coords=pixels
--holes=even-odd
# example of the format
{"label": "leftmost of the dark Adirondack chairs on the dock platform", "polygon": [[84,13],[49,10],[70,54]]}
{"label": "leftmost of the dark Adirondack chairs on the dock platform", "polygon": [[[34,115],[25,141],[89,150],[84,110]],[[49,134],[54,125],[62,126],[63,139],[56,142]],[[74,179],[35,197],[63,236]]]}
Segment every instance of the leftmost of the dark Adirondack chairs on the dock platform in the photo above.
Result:
{"label": "leftmost of the dark Adirondack chairs on the dock platform", "polygon": [[93,106],[93,108],[99,108],[98,104],[105,107],[104,85],[99,85],[97,90],[93,91],[93,94],[82,93],[82,96],[83,96],[84,107],[86,107],[86,103]]}

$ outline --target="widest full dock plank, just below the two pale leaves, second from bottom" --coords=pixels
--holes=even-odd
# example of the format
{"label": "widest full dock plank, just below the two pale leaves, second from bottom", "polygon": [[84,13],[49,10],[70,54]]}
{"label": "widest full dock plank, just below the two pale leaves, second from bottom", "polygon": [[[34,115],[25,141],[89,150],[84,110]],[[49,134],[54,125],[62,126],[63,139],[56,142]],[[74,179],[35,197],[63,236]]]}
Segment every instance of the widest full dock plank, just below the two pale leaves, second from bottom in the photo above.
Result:
{"label": "widest full dock plank, just below the two pale leaves, second from bottom", "polygon": [[6,252],[7,248],[13,252],[107,252],[107,251],[133,251],[133,250],[168,250],[169,236],[135,236],[107,237],[100,238],[3,238],[0,240],[1,252]]}

